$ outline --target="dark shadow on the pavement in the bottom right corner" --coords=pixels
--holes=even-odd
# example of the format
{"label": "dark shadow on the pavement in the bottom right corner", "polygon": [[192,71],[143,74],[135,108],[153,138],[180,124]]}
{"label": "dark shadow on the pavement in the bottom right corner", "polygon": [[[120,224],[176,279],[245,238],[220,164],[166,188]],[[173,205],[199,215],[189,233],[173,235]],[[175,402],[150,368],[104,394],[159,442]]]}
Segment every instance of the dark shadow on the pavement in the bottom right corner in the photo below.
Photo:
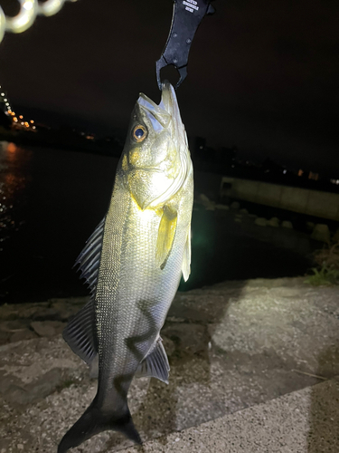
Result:
{"label": "dark shadow on the pavement in the bottom right corner", "polygon": [[[329,380],[339,375],[339,344],[326,348],[318,358],[318,376]],[[320,382],[320,380],[319,380]],[[311,389],[308,453],[337,451],[339,442],[339,380]]]}

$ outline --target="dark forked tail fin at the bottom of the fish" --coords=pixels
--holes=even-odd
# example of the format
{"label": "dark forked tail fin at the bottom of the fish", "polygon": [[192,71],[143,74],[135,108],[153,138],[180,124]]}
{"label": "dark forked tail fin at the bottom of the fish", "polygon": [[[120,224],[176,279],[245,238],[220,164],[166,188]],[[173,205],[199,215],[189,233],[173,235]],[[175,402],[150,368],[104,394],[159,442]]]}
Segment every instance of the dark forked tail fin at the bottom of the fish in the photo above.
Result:
{"label": "dark forked tail fin at the bottom of the fish", "polygon": [[69,448],[78,447],[85,440],[108,429],[122,432],[137,444],[142,443],[127,405],[126,409],[117,416],[114,411],[101,410],[94,400],[80,419],[63,436],[58,453],[66,453]]}

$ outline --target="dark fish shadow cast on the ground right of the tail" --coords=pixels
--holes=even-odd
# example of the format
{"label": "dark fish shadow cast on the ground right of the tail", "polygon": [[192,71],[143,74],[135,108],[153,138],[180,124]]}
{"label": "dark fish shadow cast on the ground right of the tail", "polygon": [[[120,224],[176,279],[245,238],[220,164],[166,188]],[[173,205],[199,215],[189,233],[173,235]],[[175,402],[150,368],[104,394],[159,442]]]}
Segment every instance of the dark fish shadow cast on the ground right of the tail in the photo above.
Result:
{"label": "dark fish shadow cast on the ground right of the tail", "polygon": [[[227,316],[232,298],[246,282],[178,293],[161,331],[171,371],[169,385],[151,379],[134,414],[143,440],[196,426],[214,416],[211,402],[211,334]],[[221,410],[221,409],[219,409]],[[165,440],[165,438],[164,438]]]}

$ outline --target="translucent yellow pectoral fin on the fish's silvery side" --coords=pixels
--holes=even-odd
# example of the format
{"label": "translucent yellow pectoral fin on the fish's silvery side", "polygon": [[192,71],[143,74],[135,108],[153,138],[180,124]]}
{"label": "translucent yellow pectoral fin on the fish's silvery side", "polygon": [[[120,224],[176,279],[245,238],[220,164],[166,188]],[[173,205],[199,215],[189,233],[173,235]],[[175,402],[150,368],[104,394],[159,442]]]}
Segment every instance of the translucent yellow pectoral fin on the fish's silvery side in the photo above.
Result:
{"label": "translucent yellow pectoral fin on the fish's silvery side", "polygon": [[164,269],[168,256],[171,253],[177,218],[177,212],[174,209],[167,206],[164,207],[158,229],[155,251],[155,263],[160,269]]}

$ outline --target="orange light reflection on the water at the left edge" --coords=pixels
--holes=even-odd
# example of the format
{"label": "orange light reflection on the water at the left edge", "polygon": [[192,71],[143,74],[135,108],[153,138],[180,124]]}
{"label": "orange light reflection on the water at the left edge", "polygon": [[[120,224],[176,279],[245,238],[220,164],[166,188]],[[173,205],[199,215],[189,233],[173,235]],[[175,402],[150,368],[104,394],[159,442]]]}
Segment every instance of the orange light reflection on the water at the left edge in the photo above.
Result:
{"label": "orange light reflection on the water at the left edge", "polygon": [[0,252],[13,232],[24,225],[20,211],[26,201],[31,158],[31,151],[11,142],[0,142]]}

